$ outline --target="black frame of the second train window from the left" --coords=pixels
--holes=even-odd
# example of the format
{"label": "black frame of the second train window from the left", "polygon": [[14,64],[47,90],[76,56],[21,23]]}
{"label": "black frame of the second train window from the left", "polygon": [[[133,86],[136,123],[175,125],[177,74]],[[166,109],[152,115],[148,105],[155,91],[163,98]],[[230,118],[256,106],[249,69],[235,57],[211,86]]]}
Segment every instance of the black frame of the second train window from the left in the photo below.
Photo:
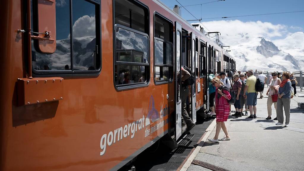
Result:
{"label": "black frame of the second train window from the left", "polygon": [[[145,31],[146,31],[146,28],[147,28],[147,33],[145,32],[141,32],[141,31],[138,31],[138,30],[135,30],[135,29],[132,29],[130,27],[127,27],[127,26],[123,26],[123,25],[120,25],[120,24],[115,24],[115,0],[112,1],[113,5],[112,5],[112,19],[113,19],[113,85],[114,85],[114,88],[116,91],[125,91],[125,90],[131,90],[131,89],[137,89],[137,88],[144,88],[144,87],[148,87],[149,83],[150,83],[150,77],[151,77],[151,74],[150,74],[150,71],[151,71],[151,55],[150,55],[150,47],[151,47],[151,43],[150,43],[150,9],[148,8],[147,5],[143,4],[142,2],[139,2],[137,0],[127,0],[127,1],[130,1],[132,3],[134,3],[135,5],[139,6],[140,8],[143,8],[144,10],[147,11],[147,17],[148,17],[148,21],[147,21],[147,24],[148,26],[145,26]],[[132,32],[135,32],[135,33],[138,33],[138,34],[141,34],[141,35],[144,35],[144,36],[147,36],[148,37],[148,52],[147,52],[147,55],[148,55],[148,59],[147,61],[149,63],[147,63],[147,65],[136,65],[136,64],[145,64],[145,63],[137,63],[137,62],[123,62],[123,61],[118,61],[119,64],[126,64],[126,65],[131,65],[131,66],[147,66],[148,67],[148,73],[147,73],[147,77],[146,77],[146,82],[136,82],[136,83],[131,83],[131,84],[123,84],[123,85],[116,85],[116,81],[115,81],[115,65],[117,64],[117,61],[116,61],[116,28],[117,27],[120,27],[122,29],[126,29],[126,30],[129,30],[129,31],[132,31]],[[134,65],[132,65],[134,64]]]}

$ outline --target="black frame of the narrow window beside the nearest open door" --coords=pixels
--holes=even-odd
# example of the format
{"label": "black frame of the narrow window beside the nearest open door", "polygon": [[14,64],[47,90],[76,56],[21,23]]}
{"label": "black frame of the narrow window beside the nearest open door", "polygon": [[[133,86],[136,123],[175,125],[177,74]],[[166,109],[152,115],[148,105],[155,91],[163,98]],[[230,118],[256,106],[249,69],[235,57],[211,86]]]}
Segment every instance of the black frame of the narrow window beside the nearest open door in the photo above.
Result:
{"label": "black frame of the narrow window beside the nearest open door", "polygon": [[[163,40],[163,39],[161,39],[161,38],[158,38],[158,37],[155,37],[155,15],[157,15],[157,17],[159,17],[159,18],[161,18],[161,19],[164,19],[164,20],[166,20],[166,21],[168,21],[170,24],[171,24],[171,26],[172,26],[172,41],[173,41],[173,43],[172,42],[170,42],[170,41],[167,41],[167,40]],[[173,24],[173,22],[171,21],[171,20],[169,20],[169,19],[167,19],[166,17],[164,17],[163,15],[161,15],[159,12],[157,12],[157,11],[154,11],[154,14],[153,14],[153,67],[154,67],[154,72],[153,72],[153,81],[154,81],[154,84],[155,85],[161,85],[161,84],[167,84],[167,83],[172,83],[173,82],[173,80],[174,80],[174,24]],[[160,41],[162,41],[162,42],[165,42],[165,43],[170,43],[171,45],[172,45],[172,64],[171,65],[168,65],[168,64],[156,64],[155,63],[155,40],[160,40]],[[157,67],[157,66],[159,66],[159,67],[168,67],[168,68],[170,68],[170,67],[172,67],[172,75],[171,75],[171,80],[158,80],[158,81],[156,81],[155,80],[155,75],[156,75],[156,70],[155,70],[155,68]],[[170,70],[169,70],[169,72],[170,72]]]}

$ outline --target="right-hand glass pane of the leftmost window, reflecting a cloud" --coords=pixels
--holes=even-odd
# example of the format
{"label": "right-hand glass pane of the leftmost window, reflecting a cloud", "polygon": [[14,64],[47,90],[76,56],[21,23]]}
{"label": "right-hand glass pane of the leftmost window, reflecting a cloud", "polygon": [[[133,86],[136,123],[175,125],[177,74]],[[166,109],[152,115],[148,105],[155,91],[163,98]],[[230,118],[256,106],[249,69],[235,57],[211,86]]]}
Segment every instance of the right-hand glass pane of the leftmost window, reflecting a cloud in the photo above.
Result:
{"label": "right-hand glass pane of the leftmost window, reflecting a cloud", "polygon": [[74,70],[96,70],[95,5],[73,1],[72,9]]}

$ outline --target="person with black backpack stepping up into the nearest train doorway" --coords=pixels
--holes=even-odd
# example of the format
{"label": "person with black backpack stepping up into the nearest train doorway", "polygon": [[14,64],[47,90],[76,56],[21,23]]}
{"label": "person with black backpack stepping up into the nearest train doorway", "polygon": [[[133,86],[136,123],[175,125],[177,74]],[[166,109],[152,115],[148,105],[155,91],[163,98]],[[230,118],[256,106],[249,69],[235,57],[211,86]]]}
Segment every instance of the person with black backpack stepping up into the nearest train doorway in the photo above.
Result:
{"label": "person with black backpack stepping up into the nearest train doorway", "polygon": [[181,67],[181,125],[182,127],[187,126],[186,131],[189,132],[194,126],[191,117],[187,112],[187,99],[189,96],[189,85],[185,82],[190,77],[190,73]]}

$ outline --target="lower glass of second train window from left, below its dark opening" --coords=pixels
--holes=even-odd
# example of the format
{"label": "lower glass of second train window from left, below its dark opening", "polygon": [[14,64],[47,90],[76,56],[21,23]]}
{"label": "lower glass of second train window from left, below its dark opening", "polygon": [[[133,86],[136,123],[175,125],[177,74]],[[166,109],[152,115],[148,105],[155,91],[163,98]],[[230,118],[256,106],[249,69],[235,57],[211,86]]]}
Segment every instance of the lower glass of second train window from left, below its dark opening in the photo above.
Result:
{"label": "lower glass of second train window from left, below its dark opening", "polygon": [[146,83],[149,73],[148,35],[116,25],[115,47],[116,85]]}

